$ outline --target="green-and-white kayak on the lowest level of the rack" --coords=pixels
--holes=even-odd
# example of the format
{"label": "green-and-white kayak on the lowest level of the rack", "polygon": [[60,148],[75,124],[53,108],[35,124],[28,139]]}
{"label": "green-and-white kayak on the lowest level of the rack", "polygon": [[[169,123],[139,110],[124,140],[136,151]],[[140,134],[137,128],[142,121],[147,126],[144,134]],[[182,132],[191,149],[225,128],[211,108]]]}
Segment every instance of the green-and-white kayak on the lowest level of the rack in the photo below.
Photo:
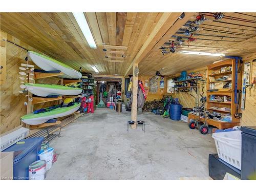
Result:
{"label": "green-and-white kayak on the lowest level of the rack", "polygon": [[81,103],[75,103],[72,106],[62,107],[62,108],[58,107],[50,111],[47,111],[47,109],[49,108],[45,108],[46,112],[41,112],[37,114],[30,113],[20,117],[20,120],[22,120],[22,122],[29,125],[37,125],[37,124],[45,123],[50,119],[64,117],[76,112],[80,108],[80,105]]}

